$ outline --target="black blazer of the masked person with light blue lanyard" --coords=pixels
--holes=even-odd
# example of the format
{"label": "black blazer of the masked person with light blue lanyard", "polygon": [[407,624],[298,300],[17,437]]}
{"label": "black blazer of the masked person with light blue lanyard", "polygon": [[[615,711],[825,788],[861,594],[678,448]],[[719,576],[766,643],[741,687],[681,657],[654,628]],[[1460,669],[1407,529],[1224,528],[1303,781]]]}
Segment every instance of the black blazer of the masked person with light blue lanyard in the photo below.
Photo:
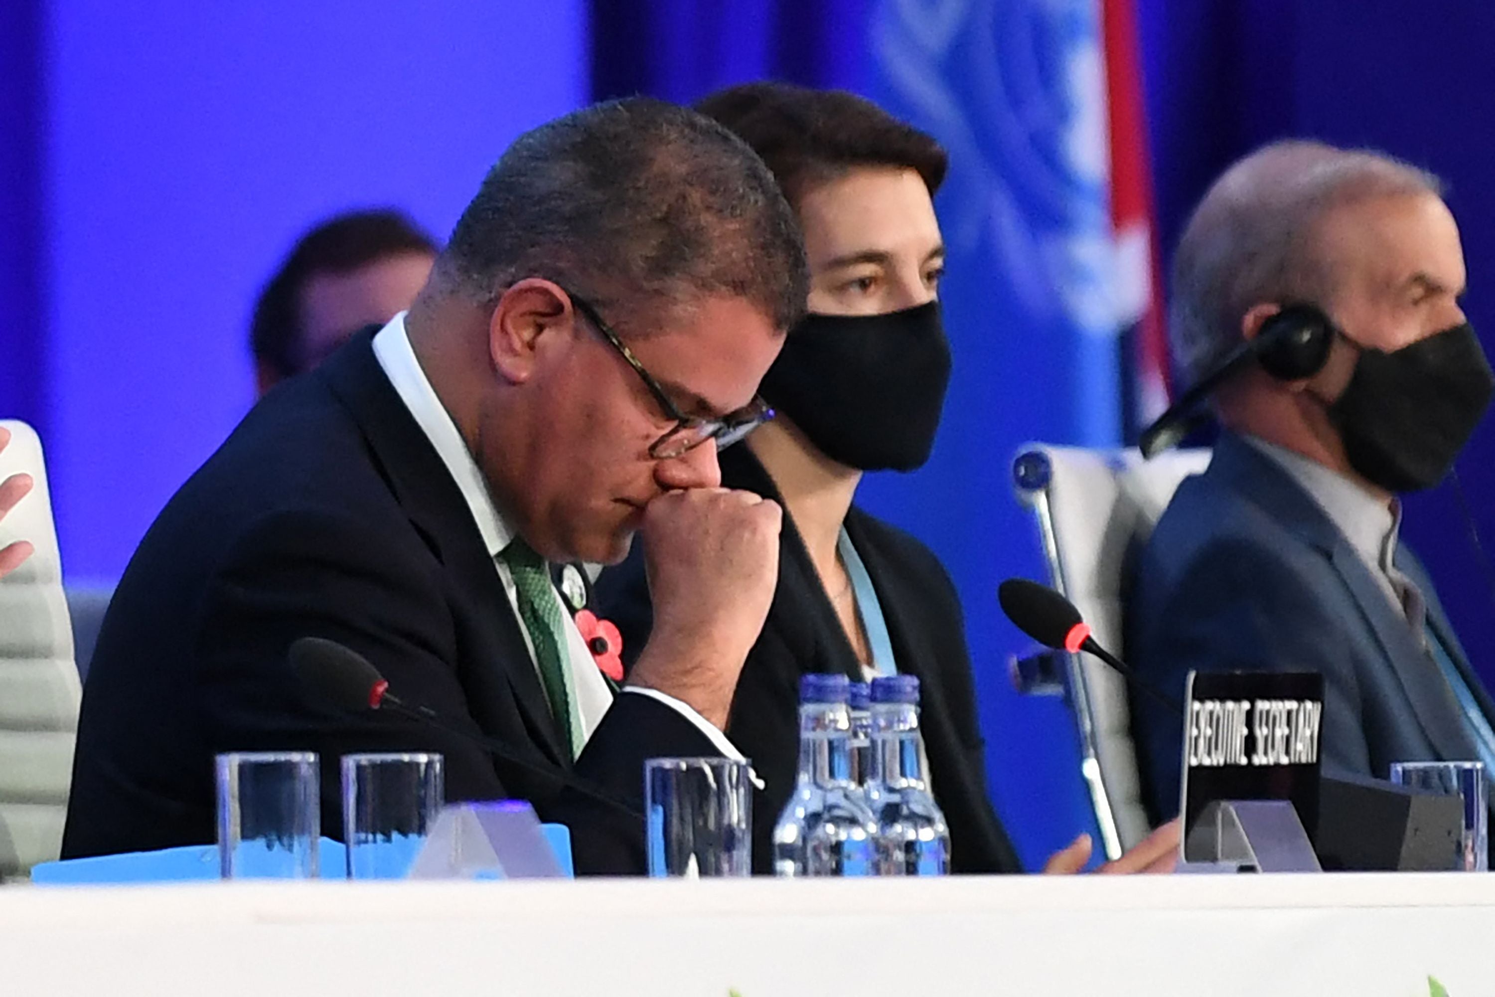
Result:
{"label": "black blazer of the masked person with light blue lanyard", "polygon": [[[722,451],[722,484],[779,499],[768,472],[748,447]],[[782,501],[780,501],[782,504]],[[951,831],[951,858],[961,873],[1023,871],[987,795],[985,743],[955,587],[928,547],[900,529],[852,508],[846,532],[872,575],[898,668],[918,676],[921,726],[936,801]],[[597,581],[597,602],[637,656],[653,620],[640,552]],[[748,655],[733,700],[727,735],[752,759],[765,783],[753,798],[753,867],[771,870],[773,825],[789,800],[798,770],[800,676],[843,673],[863,680],[857,655],[836,619],[800,534],[783,519],[779,587],[758,643]]]}

